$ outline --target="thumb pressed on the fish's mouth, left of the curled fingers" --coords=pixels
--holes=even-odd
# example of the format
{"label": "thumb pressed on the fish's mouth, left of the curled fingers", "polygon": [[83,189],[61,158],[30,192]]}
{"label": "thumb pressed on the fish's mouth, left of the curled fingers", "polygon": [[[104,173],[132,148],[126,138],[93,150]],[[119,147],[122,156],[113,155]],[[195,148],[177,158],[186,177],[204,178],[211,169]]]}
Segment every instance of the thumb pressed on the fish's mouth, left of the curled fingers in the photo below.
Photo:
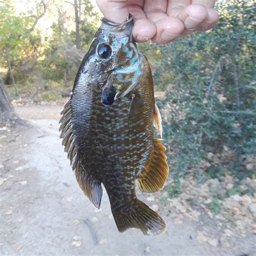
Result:
{"label": "thumb pressed on the fish's mouth, left of the curled fingers", "polygon": [[123,23],[129,17],[128,0],[96,0],[99,10],[106,19]]}

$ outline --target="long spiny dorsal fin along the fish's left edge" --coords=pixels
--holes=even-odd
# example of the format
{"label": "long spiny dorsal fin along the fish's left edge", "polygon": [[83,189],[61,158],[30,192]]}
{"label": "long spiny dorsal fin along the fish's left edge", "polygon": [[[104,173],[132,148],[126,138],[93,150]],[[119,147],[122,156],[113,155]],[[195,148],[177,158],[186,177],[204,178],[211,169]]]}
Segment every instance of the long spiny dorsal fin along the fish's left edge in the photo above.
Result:
{"label": "long spiny dorsal fin along the fish's left edge", "polygon": [[62,114],[62,118],[59,120],[60,138],[62,138],[62,145],[65,146],[65,152],[68,153],[68,159],[70,159],[70,164],[76,174],[77,182],[85,195],[99,208],[102,199],[102,186],[99,181],[87,175],[83,159],[76,149],[75,136],[72,132],[70,100],[60,114]]}

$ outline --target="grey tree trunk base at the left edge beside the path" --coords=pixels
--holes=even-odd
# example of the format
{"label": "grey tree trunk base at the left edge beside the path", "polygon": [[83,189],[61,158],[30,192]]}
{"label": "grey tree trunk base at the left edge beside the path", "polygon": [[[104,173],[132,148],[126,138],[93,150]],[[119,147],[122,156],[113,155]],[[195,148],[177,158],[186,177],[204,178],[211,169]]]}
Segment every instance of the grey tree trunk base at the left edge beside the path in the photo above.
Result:
{"label": "grey tree trunk base at the left edge beside the path", "polygon": [[3,80],[0,77],[0,124],[8,122],[14,116],[14,107],[10,102]]}

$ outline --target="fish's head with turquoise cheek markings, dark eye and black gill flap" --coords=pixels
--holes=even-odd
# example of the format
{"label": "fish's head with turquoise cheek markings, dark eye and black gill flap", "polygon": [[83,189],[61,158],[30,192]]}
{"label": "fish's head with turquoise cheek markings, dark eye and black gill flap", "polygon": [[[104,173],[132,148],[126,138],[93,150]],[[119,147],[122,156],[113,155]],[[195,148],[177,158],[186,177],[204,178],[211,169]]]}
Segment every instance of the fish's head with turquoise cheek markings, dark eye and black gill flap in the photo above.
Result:
{"label": "fish's head with turquoise cheek markings, dark eye and black gill flap", "polygon": [[86,80],[97,86],[104,105],[112,105],[138,84],[143,57],[132,41],[132,16],[119,24],[102,18],[82,68]]}

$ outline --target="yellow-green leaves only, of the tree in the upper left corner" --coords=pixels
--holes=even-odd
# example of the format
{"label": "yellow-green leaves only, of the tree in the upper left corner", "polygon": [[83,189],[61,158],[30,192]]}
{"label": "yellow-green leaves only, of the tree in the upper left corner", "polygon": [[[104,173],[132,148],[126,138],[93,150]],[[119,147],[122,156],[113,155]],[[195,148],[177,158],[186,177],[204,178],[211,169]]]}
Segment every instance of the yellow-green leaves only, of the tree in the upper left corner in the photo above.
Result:
{"label": "yellow-green leaves only, of the tree in the upper left corner", "polygon": [[0,63],[8,66],[21,77],[23,66],[31,61],[39,52],[41,37],[33,31],[32,16],[23,13],[17,15],[14,6],[8,1],[0,3]]}

